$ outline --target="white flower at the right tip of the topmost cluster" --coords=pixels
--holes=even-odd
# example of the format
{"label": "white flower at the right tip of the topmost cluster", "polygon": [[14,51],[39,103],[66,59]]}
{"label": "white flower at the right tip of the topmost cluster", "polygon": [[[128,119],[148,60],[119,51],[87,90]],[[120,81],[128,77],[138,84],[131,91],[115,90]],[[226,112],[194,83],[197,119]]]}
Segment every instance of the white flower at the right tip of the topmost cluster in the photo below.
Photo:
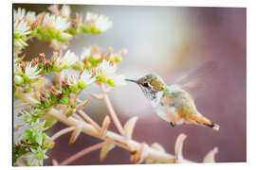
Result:
{"label": "white flower at the right tip of the topmost cluster", "polygon": [[100,31],[106,31],[112,26],[112,22],[105,15],[88,12],[85,17],[86,26],[95,26]]}

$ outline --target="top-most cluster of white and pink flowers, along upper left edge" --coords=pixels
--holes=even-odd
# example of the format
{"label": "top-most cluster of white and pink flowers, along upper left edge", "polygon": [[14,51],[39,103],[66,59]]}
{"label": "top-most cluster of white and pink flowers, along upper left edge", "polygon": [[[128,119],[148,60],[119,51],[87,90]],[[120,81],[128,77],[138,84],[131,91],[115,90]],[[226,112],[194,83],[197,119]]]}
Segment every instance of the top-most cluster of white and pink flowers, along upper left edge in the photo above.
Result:
{"label": "top-most cluster of white and pink flowers, along upper left edge", "polygon": [[112,22],[104,15],[88,12],[82,22],[82,15],[70,17],[71,9],[64,5],[52,5],[50,12],[36,14],[18,8],[13,12],[13,44],[15,57],[21,49],[27,46],[27,40],[36,37],[41,41],[48,41],[55,50],[66,48],[66,42],[74,35],[81,33],[101,33],[112,26]]}

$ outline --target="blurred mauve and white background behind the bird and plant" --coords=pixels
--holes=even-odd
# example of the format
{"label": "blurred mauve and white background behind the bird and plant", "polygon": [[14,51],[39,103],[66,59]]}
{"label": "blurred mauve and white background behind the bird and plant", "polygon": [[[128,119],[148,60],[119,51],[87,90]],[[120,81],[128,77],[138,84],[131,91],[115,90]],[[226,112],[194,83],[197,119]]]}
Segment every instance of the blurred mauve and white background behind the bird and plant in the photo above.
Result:
{"label": "blurred mauve and white background behind the bird and plant", "polygon": [[[13,8],[26,8],[36,12],[45,11],[48,5],[16,4]],[[132,83],[114,88],[109,94],[122,124],[137,116],[134,139],[138,142],[162,144],[167,152],[174,154],[176,137],[188,135],[184,144],[184,157],[203,161],[214,146],[219,148],[218,162],[247,161],[247,44],[246,8],[178,8],[136,6],[71,6],[72,15],[87,11],[107,15],[113,27],[101,35],[79,35],[68,48],[77,55],[88,45],[100,45],[107,52],[125,47],[128,50],[118,65],[118,73],[137,78],[148,73],[162,76],[167,84],[203,63],[215,60],[219,69],[207,88],[195,99],[197,109],[220,125],[219,131],[208,127],[181,125],[171,127],[160,119],[140,89]],[[52,55],[47,42],[29,42],[27,56],[39,53]],[[97,86],[85,90],[100,92]],[[103,101],[91,99],[85,111],[101,124],[107,110]],[[48,132],[49,136],[64,128],[58,123]],[[110,128],[116,131],[115,127]],[[47,152],[50,158],[64,161],[83,148],[100,141],[82,134],[75,144],[68,144],[70,134],[57,140]],[[128,164],[128,151],[116,147],[104,161],[99,161],[100,151],[94,151],[71,164]],[[45,161],[51,165],[51,159]]]}

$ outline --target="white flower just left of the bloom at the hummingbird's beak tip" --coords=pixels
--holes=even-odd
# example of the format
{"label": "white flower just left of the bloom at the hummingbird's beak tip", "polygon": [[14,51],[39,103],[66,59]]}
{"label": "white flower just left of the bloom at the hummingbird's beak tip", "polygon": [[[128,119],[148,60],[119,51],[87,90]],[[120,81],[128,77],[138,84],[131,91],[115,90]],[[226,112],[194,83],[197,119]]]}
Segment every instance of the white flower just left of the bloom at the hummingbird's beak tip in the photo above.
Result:
{"label": "white flower just left of the bloom at the hummingbird's beak tip", "polygon": [[116,76],[117,66],[116,64],[110,65],[110,62],[103,60],[97,67],[96,75],[103,76],[106,79]]}

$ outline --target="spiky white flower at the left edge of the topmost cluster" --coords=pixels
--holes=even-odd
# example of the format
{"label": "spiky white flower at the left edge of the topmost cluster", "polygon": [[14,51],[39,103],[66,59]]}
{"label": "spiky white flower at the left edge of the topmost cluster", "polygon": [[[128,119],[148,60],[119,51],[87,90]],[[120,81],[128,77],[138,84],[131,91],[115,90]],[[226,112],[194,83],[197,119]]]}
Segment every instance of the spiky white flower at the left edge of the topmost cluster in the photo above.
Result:
{"label": "spiky white flower at the left edge of the topmost cluster", "polygon": [[27,25],[27,22],[24,21],[15,21],[13,25],[14,34],[18,36],[26,36],[30,34],[30,26]]}

